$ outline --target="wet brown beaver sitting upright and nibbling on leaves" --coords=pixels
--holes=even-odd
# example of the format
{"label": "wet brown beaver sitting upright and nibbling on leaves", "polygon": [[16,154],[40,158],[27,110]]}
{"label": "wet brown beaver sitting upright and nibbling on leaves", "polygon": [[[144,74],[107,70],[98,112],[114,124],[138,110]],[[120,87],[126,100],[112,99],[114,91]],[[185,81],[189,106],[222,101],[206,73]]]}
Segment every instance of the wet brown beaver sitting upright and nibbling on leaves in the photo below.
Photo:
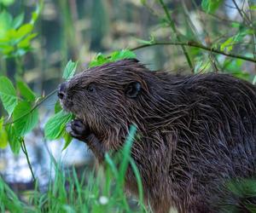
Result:
{"label": "wet brown beaver sitting upright and nibbling on leaves", "polygon": [[[96,66],[61,83],[62,107],[76,116],[67,131],[102,162],[118,152],[131,124],[131,147],[154,212],[219,212],[227,181],[254,178],[256,89],[228,74],[173,75],[138,60]],[[129,167],[125,183],[137,194]]]}

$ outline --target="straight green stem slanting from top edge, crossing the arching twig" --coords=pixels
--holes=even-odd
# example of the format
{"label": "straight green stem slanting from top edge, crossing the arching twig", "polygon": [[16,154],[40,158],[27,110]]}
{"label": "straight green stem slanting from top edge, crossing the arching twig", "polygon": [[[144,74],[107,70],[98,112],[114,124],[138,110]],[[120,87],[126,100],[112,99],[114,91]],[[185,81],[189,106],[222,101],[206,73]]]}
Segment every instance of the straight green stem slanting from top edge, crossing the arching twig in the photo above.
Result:
{"label": "straight green stem slanting from top edge, crossing the arching twig", "polygon": [[[176,38],[177,38],[177,41],[178,41],[179,43],[181,43],[182,40],[181,40],[181,38],[179,37],[179,34],[178,34],[178,32],[177,32],[177,28],[176,28],[176,26],[175,26],[175,24],[174,24],[174,21],[173,21],[172,18],[171,18],[171,15],[170,15],[170,13],[169,13],[167,7],[166,7],[166,4],[163,2],[163,0],[159,0],[159,2],[160,2],[161,7],[165,10],[166,18],[167,18],[167,20],[168,20],[168,22],[169,22],[169,24],[170,24],[170,26],[171,26],[171,28],[172,28],[172,31],[174,32],[174,34],[175,34],[175,36],[176,36]],[[183,49],[183,54],[185,55],[185,57],[186,57],[186,59],[187,59],[187,61],[188,61],[189,67],[193,70],[193,69],[194,69],[194,66],[193,66],[193,64],[192,64],[192,61],[190,60],[189,53],[187,52],[187,50],[185,49],[184,46],[185,46],[185,45],[181,45],[181,48]]]}

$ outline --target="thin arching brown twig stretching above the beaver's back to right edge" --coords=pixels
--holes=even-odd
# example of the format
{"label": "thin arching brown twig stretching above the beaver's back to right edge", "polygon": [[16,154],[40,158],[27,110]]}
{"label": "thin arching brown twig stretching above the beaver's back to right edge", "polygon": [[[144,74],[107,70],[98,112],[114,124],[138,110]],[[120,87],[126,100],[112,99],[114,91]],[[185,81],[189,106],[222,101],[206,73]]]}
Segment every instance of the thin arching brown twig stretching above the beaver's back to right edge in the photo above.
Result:
{"label": "thin arching brown twig stretching above the beaver's back to right edge", "polygon": [[220,54],[220,55],[226,55],[226,56],[231,57],[231,58],[247,60],[247,61],[251,61],[253,63],[256,63],[256,59],[253,59],[251,57],[226,53],[226,52],[221,51],[219,49],[207,47],[207,46],[205,46],[201,43],[196,43],[194,41],[189,41],[189,42],[154,42],[154,43],[143,44],[143,45],[137,46],[135,48],[131,48],[130,50],[134,51],[134,50],[137,50],[137,49],[143,49],[143,48],[156,46],[156,45],[175,45],[175,46],[183,45],[183,46],[188,46],[188,47],[195,47],[195,48],[199,48],[199,49],[205,49],[205,50],[210,51],[212,53],[217,53],[217,54]]}

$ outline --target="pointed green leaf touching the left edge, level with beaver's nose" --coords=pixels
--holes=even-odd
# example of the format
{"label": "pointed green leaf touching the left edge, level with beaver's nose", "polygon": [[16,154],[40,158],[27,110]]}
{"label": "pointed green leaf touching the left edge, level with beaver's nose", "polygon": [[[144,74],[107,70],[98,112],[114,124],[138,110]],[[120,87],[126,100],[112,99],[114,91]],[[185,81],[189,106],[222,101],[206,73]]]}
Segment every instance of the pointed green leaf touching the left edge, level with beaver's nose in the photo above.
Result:
{"label": "pointed green leaf touching the left edge, level with beaver's nose", "polygon": [[13,83],[6,77],[0,77],[0,98],[3,102],[4,109],[9,113],[9,116],[14,112],[18,103],[15,87]]}

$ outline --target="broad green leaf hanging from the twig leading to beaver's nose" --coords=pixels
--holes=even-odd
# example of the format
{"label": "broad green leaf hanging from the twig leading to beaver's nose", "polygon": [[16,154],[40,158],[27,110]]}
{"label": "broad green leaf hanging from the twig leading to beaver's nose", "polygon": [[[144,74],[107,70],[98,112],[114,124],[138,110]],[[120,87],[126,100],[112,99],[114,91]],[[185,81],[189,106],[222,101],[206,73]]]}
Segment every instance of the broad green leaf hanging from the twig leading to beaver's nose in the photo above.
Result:
{"label": "broad green leaf hanging from the twig leading to beaver's nose", "polygon": [[29,102],[21,101],[15,107],[13,114],[17,135],[26,135],[38,124],[38,109],[33,109]]}

